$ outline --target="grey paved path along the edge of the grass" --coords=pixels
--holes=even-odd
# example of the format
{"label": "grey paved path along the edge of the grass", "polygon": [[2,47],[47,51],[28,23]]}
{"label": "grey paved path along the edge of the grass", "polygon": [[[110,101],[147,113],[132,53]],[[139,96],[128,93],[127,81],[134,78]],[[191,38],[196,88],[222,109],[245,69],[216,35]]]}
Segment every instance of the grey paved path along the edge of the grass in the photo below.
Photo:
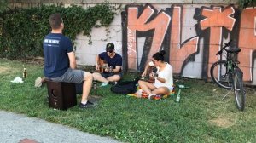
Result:
{"label": "grey paved path along the edge of the grass", "polygon": [[0,143],[117,143],[42,119],[0,111]]}

